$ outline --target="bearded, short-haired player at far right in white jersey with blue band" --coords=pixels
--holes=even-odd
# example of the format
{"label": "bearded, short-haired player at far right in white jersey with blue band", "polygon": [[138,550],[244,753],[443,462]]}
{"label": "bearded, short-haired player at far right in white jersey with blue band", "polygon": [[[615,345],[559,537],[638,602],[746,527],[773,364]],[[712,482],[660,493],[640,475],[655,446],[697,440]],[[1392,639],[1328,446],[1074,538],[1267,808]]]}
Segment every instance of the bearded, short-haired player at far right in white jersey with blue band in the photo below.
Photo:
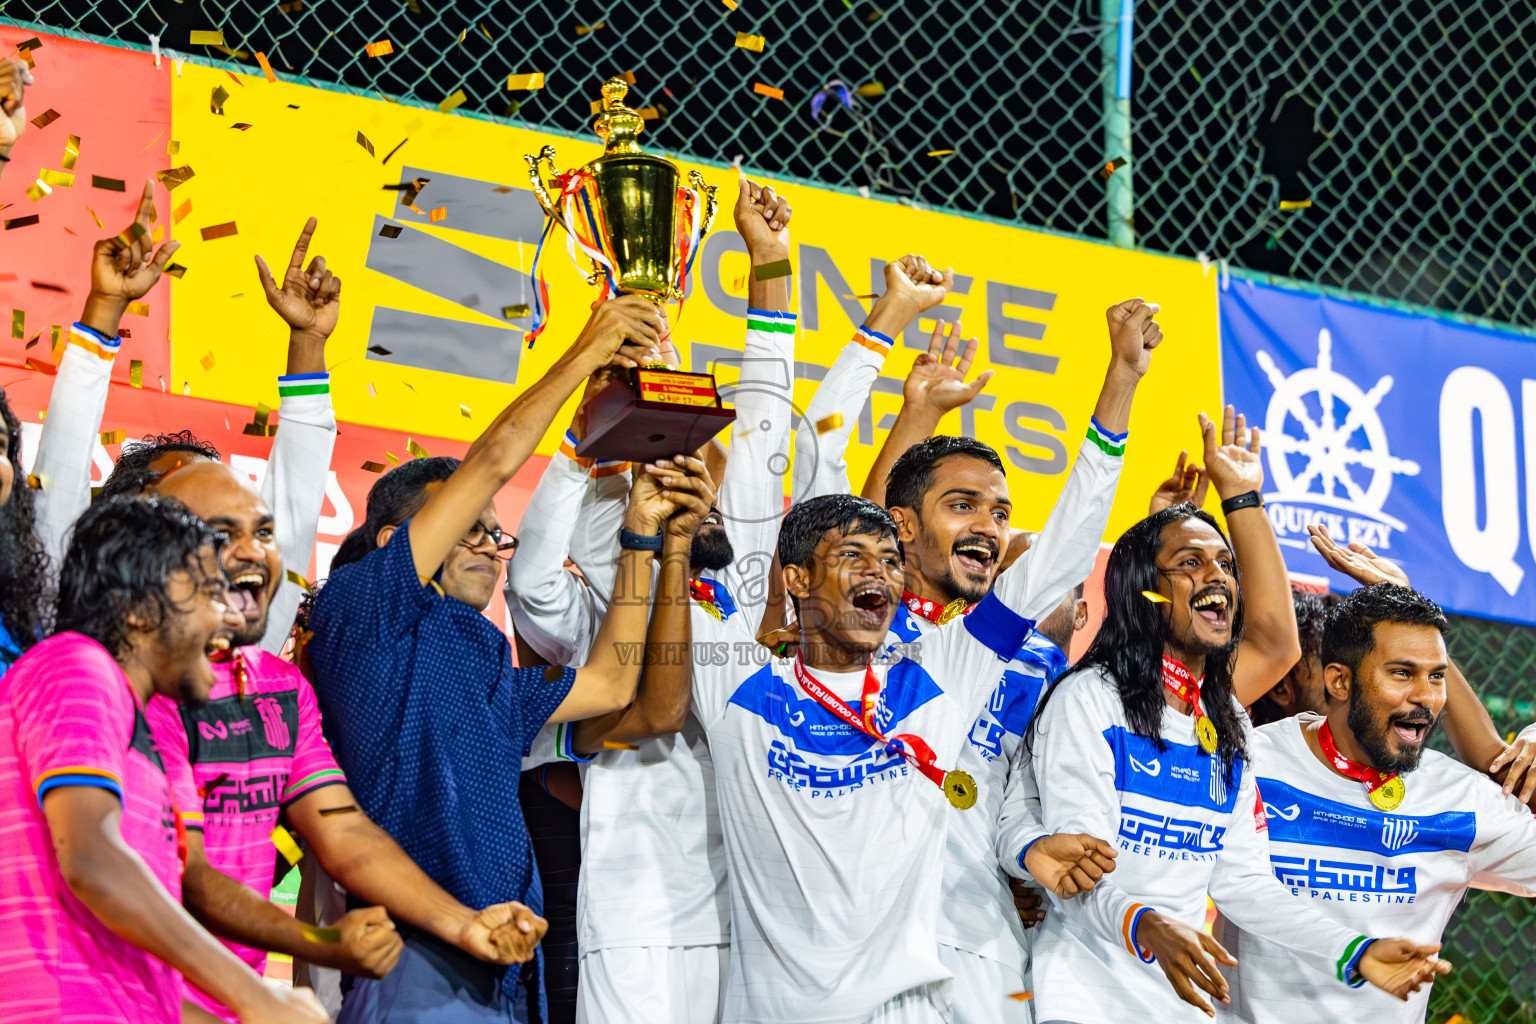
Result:
{"label": "bearded, short-haired player at far right in white jersey with blue band", "polygon": [[[1536,895],[1536,818],[1475,768],[1428,749],[1447,706],[1445,616],[1396,583],[1362,586],[1322,633],[1327,711],[1252,735],[1269,860],[1286,889],[1352,932],[1439,949],[1468,887]],[[1422,1022],[1407,1004],[1346,993],[1315,961],[1247,929],[1223,938],[1238,966],[1221,1018]]]}

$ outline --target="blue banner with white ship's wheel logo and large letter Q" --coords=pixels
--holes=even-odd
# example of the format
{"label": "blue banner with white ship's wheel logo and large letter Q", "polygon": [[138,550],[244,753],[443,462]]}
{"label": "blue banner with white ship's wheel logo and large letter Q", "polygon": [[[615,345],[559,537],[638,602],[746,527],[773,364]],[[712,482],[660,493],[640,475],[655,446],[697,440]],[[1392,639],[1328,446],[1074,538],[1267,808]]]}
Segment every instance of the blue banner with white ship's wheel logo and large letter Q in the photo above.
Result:
{"label": "blue banner with white ship's wheel logo and large letter Q", "polygon": [[1322,524],[1447,611],[1536,623],[1536,339],[1232,278],[1223,395],[1264,428],[1264,502],[1293,574],[1355,583]]}

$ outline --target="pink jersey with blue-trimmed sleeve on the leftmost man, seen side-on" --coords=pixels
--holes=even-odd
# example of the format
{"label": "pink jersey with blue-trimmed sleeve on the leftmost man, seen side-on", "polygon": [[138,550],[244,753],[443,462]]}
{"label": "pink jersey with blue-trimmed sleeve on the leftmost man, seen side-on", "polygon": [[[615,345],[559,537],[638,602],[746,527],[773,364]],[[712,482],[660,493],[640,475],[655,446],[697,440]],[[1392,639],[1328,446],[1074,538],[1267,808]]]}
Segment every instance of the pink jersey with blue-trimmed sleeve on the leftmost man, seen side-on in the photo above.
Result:
{"label": "pink jersey with blue-trimmed sleeve on the leftmost man, seen side-on", "polygon": [[43,797],[98,786],[118,829],[181,901],[177,811],[138,694],[112,656],[60,633],[0,677],[0,1024],[181,1019],[181,975],[114,935],[58,872]]}

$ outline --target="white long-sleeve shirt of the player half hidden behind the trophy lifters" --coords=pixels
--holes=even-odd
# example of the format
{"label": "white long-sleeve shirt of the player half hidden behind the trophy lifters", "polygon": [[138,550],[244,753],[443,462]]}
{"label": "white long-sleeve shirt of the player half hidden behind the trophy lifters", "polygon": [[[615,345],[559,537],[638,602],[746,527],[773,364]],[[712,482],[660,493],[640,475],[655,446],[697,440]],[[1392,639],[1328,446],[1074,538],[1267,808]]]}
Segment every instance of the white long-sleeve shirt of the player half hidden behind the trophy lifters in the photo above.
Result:
{"label": "white long-sleeve shirt of the player half hidden behind the trophy lifters", "polygon": [[[793,313],[748,313],[736,422],[717,500],[737,560],[710,580],[720,591],[725,620],[693,605],[694,631],[717,626],[728,637],[725,657],[733,659],[742,652],[751,657],[759,646],[765,574],[783,510],[794,321]],[[551,457],[519,527],[507,605],[513,628],[536,651],[554,663],[579,665],[611,596],[627,477],[588,482],[587,470],[571,457],[574,439],[567,441]],[[584,545],[581,557],[576,543]],[[590,586],[562,568],[567,550]],[[748,560],[754,553],[756,562]],[[585,766],[576,910],[582,953],[730,941],[725,852],[713,794],[710,748],[693,715],[676,735],[641,743],[637,751],[602,751]]]}

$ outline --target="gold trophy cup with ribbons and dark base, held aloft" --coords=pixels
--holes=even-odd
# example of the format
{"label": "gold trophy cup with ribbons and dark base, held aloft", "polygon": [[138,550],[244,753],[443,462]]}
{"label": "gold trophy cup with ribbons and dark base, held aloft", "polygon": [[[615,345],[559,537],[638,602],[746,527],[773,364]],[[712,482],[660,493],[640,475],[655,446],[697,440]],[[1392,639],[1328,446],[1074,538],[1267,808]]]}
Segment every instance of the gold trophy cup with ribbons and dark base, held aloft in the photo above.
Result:
{"label": "gold trophy cup with ribbons and dark base, held aloft", "polygon": [[[691,170],[688,187],[677,164],[641,152],[634,140],[645,121],[624,106],[628,91],[624,78],[602,83],[602,112],[593,130],[605,146],[591,163],[556,175],[553,146],[524,160],[533,195],[548,216],[541,255],[559,224],[587,284],[599,286],[604,298],[642,295],[660,309],[684,295],[688,269],[714,223],[716,186]],[[539,175],[541,164],[550,170],[550,184]],[[542,281],[535,287],[544,292]],[[710,373],[684,373],[667,364],[625,370],[591,398],[587,436],[576,454],[664,459],[694,451],[734,419],[736,413],[720,405]]]}

